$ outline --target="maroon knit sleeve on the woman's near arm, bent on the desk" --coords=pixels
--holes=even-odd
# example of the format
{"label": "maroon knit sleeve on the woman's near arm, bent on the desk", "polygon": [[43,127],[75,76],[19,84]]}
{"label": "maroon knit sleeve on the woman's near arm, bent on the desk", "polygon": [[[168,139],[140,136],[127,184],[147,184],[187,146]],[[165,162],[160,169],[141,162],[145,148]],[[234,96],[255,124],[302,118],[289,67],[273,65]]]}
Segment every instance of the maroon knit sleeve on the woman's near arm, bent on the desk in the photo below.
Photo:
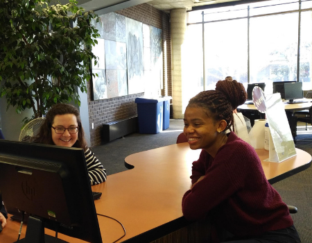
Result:
{"label": "maroon knit sleeve on the woman's near arm, bent on the desk", "polygon": [[[241,142],[225,144],[215,158],[211,158],[206,151],[202,153],[206,153],[206,156],[201,156],[196,163],[206,165],[206,176],[187,191],[182,199],[183,215],[189,220],[205,218],[209,210],[242,190],[245,181],[254,179],[246,177],[248,167],[250,169],[254,162],[261,165],[257,153],[252,153],[250,148]],[[250,173],[254,175],[253,171]],[[259,180],[265,180],[263,174]]]}

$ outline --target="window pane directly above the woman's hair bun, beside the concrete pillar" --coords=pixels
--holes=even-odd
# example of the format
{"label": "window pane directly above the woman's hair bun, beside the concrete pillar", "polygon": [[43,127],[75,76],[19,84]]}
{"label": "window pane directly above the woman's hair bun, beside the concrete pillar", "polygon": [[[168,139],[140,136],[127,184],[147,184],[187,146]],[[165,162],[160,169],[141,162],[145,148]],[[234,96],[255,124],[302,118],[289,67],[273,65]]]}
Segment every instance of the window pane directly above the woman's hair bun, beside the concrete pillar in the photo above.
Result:
{"label": "window pane directly above the woman's hair bun, beside the concrete pillar", "polygon": [[247,83],[247,19],[205,24],[205,90],[232,76]]}

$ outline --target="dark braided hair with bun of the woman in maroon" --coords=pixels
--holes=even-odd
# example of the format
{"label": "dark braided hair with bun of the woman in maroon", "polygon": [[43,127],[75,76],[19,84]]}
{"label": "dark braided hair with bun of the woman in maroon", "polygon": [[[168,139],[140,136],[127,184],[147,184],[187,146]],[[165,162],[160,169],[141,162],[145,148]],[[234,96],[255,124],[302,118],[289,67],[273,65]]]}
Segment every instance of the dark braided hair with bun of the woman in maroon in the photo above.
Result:
{"label": "dark braided hair with bun of the woman in maroon", "polygon": [[233,110],[243,104],[247,93],[242,83],[234,81],[218,81],[216,90],[202,91],[190,99],[188,106],[196,106],[207,110],[207,115],[215,121],[227,121],[225,131],[234,131]]}

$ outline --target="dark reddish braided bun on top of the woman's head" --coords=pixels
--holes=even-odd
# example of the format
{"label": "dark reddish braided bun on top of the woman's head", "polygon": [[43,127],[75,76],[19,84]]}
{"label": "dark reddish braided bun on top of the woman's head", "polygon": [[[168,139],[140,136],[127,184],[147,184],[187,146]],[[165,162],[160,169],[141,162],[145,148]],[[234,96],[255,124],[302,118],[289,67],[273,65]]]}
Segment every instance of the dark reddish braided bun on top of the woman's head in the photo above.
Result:
{"label": "dark reddish braided bun on top of the woman's head", "polygon": [[233,110],[245,103],[247,99],[245,87],[242,83],[239,83],[236,80],[218,81],[218,83],[216,83],[216,90],[222,92],[225,97],[227,97],[229,103],[232,104]]}

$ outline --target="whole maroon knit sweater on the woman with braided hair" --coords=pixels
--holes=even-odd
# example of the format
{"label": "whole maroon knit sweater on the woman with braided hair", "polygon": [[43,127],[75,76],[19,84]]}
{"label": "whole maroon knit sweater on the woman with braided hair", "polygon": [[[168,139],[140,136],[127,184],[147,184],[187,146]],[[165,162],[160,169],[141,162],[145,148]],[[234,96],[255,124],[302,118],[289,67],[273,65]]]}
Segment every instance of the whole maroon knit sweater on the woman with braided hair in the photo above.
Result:
{"label": "whole maroon knit sweater on the woman with braided hair", "polygon": [[239,236],[293,225],[288,207],[266,180],[256,151],[232,132],[215,158],[202,150],[193,162],[191,180],[196,185],[182,199],[183,215],[189,220],[211,212],[217,224]]}

